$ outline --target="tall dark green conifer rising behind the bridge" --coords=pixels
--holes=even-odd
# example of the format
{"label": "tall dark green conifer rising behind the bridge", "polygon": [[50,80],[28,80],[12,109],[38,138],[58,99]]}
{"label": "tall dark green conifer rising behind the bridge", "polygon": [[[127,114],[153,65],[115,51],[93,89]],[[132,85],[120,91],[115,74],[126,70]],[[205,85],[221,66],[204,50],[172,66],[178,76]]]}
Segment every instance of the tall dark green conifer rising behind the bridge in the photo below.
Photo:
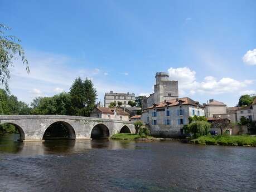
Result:
{"label": "tall dark green conifer rising behind the bridge", "polygon": [[76,116],[90,116],[90,112],[95,107],[97,97],[93,82],[87,78],[82,81],[80,77],[76,78],[70,88],[72,102],[72,114]]}

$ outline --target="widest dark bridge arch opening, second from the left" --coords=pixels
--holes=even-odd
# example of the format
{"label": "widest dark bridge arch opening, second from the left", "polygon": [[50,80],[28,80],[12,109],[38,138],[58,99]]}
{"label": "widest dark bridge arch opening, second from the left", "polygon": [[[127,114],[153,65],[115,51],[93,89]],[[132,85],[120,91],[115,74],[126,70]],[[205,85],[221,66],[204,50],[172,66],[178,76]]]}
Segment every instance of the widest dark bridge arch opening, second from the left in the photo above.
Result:
{"label": "widest dark bridge arch opening, second from the left", "polygon": [[44,130],[42,139],[76,139],[76,133],[68,122],[54,121]]}

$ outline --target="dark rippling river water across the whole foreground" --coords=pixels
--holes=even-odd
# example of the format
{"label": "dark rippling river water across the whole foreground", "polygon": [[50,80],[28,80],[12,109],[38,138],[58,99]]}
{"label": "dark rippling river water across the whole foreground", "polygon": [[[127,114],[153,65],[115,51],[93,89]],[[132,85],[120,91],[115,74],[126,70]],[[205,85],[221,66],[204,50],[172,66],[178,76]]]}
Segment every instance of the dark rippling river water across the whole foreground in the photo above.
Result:
{"label": "dark rippling river water across the whole foreground", "polygon": [[0,191],[256,191],[256,148],[0,137]]}

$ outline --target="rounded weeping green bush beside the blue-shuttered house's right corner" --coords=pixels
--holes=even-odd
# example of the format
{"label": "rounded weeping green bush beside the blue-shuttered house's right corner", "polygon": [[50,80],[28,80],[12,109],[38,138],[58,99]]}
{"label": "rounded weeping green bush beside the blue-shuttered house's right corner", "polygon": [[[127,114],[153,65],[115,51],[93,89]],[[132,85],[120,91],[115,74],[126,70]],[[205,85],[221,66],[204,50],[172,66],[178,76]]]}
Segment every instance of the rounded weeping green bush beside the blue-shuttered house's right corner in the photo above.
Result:
{"label": "rounded weeping green bush beside the blue-shuttered house's right corner", "polygon": [[191,124],[187,126],[189,132],[193,134],[194,138],[200,137],[202,135],[209,134],[209,129],[211,124],[206,121],[193,121]]}

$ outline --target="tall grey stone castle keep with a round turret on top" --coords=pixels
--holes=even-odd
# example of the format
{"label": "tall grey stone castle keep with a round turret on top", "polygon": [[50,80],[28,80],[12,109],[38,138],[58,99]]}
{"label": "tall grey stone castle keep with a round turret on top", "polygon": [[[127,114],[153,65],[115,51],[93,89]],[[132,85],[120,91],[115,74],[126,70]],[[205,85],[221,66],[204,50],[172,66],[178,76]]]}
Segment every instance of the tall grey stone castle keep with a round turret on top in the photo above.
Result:
{"label": "tall grey stone castle keep with a round turret on top", "polygon": [[157,72],[155,77],[154,93],[149,97],[144,97],[142,110],[147,109],[153,104],[160,104],[165,100],[178,98],[178,81],[169,80],[169,75],[165,72]]}

